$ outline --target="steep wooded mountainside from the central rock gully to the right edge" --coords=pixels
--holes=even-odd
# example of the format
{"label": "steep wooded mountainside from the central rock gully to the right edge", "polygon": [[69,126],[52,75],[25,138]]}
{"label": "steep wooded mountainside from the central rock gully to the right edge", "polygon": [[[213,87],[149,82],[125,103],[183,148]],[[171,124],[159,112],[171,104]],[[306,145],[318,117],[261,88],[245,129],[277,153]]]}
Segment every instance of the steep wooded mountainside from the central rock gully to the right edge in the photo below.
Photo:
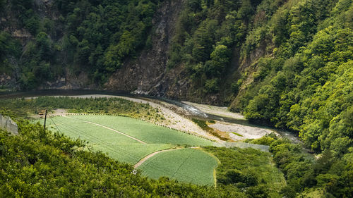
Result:
{"label": "steep wooded mountainside from the central rock gully to the right edge", "polygon": [[174,27],[157,29],[152,49],[112,75],[108,89],[230,103],[250,120],[299,132],[314,151],[345,142],[340,152],[347,152],[352,1],[172,4],[164,2],[159,13],[172,14],[157,15],[155,27],[172,23],[180,12]]}

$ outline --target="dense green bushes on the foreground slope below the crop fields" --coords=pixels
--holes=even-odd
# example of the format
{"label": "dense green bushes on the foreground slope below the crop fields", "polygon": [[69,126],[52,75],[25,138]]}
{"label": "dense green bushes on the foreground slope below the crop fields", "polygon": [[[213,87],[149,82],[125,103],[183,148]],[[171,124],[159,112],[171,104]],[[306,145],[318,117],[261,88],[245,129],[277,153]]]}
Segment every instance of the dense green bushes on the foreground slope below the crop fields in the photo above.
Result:
{"label": "dense green bushes on the foreground slope below the crop fields", "polygon": [[150,180],[80,141],[18,121],[20,135],[0,130],[0,197],[246,197],[239,190]]}

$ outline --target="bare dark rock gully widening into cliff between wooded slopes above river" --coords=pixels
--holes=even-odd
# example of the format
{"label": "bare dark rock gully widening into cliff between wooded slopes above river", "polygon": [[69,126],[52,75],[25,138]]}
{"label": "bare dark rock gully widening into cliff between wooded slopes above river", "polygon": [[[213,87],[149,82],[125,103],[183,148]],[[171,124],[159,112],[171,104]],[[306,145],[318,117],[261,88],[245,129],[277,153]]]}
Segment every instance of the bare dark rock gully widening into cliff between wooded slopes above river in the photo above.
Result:
{"label": "bare dark rock gully widening into cliff between wooded slopes above river", "polygon": [[138,58],[128,60],[116,70],[104,89],[149,94],[170,99],[184,99],[220,104],[220,94],[199,97],[183,66],[167,69],[169,45],[184,1],[164,1],[155,13],[152,25],[152,48],[143,50]]}

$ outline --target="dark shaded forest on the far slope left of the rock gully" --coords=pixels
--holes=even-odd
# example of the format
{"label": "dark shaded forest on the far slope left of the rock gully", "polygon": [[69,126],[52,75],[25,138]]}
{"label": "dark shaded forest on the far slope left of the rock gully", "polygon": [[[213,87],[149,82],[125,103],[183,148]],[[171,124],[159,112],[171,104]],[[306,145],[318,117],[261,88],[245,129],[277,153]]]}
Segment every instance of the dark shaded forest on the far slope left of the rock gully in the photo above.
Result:
{"label": "dark shaded forest on the far slope left of the rock gully", "polygon": [[[66,69],[74,75],[88,73],[92,82],[104,82],[108,73],[145,47],[160,1],[47,3],[9,0],[0,4],[0,17],[8,19],[0,24],[0,72],[16,71],[21,89],[34,89],[67,73]],[[44,15],[45,9],[50,13]],[[13,26],[33,38],[25,47],[3,29]]]}

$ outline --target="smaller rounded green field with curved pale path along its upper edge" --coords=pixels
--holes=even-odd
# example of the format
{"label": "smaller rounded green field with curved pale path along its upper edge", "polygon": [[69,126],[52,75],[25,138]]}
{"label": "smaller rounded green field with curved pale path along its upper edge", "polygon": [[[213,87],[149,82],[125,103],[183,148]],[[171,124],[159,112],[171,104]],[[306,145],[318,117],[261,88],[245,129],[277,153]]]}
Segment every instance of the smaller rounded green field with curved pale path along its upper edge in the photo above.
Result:
{"label": "smaller rounded green field with curved pale path along its upper edge", "polygon": [[214,185],[213,170],[217,166],[214,156],[200,149],[177,149],[152,156],[138,167],[143,174],[158,179],[167,176],[181,182]]}

